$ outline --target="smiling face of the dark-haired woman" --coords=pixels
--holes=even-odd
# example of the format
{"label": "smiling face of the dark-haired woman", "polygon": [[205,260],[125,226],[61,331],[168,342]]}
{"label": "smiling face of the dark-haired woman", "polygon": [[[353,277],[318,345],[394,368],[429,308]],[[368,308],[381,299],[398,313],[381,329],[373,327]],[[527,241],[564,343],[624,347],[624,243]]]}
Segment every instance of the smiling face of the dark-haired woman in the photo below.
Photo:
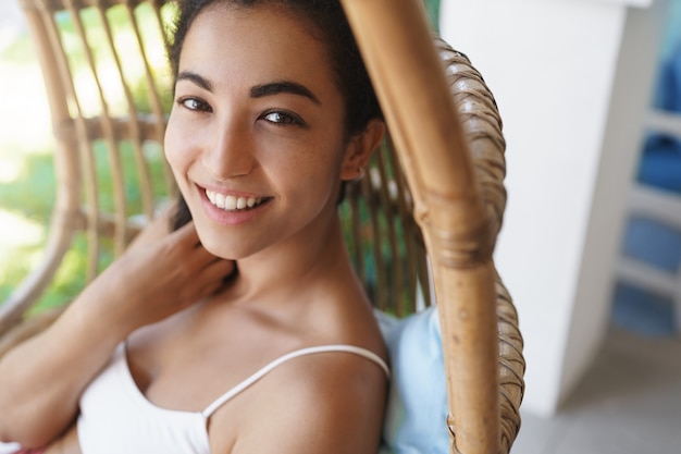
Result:
{"label": "smiling face of the dark-haired woman", "polygon": [[277,8],[218,3],[185,38],[165,154],[218,256],[312,241],[357,175],[325,47],[307,29]]}

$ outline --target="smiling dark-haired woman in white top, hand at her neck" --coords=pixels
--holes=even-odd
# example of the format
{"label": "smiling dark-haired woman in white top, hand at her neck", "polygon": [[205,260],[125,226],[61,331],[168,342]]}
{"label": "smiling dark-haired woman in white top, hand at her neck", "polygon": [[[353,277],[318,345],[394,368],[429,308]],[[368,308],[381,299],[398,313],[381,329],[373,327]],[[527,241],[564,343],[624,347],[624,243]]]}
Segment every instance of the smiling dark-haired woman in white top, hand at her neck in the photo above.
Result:
{"label": "smiling dark-haired woman in white top, hand at her neck", "polygon": [[181,226],[184,204],[176,231],[172,214],[156,221],[2,358],[0,439],[46,453],[375,453],[386,354],[336,204],[384,124],[340,5],[179,7],[165,152],[193,221]]}

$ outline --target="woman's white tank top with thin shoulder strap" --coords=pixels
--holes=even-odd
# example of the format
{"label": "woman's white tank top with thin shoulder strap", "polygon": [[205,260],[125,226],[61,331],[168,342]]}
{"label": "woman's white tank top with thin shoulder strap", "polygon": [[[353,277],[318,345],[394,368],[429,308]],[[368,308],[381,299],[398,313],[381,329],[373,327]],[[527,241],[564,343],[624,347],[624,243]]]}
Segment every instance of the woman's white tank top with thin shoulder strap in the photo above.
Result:
{"label": "woman's white tank top with thin shoulder strap", "polygon": [[304,355],[345,352],[389,370],[380,356],[352,345],[321,345],[288,353],[218,397],[202,412],[161,408],[139,391],[129,371],[125,346],[116,348],[109,366],[81,397],[78,440],[83,454],[210,454],[208,418],[234,396],[277,366]]}

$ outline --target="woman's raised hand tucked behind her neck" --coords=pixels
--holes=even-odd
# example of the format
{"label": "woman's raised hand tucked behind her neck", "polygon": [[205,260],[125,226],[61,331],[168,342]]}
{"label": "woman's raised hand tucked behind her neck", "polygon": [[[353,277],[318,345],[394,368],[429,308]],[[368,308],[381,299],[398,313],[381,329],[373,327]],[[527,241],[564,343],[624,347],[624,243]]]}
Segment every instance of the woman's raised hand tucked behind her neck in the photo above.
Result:
{"label": "woman's raised hand tucked behind her neck", "polygon": [[86,290],[101,317],[126,334],[163,320],[219,291],[235,271],[231,260],[201,246],[190,222],[164,236],[136,244]]}

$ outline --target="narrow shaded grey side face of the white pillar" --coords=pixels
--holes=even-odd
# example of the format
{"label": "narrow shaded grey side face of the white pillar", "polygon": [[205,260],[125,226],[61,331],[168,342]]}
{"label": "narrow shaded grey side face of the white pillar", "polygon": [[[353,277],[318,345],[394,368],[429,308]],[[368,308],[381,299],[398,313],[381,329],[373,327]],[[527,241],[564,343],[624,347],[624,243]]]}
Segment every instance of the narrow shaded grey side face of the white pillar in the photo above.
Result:
{"label": "narrow shaded grey side face of the white pillar", "polygon": [[621,244],[626,196],[641,149],[640,125],[652,99],[657,68],[663,3],[627,13],[566,345],[561,400],[589,367],[587,353],[599,345],[609,316],[612,274],[604,271],[612,270]]}

